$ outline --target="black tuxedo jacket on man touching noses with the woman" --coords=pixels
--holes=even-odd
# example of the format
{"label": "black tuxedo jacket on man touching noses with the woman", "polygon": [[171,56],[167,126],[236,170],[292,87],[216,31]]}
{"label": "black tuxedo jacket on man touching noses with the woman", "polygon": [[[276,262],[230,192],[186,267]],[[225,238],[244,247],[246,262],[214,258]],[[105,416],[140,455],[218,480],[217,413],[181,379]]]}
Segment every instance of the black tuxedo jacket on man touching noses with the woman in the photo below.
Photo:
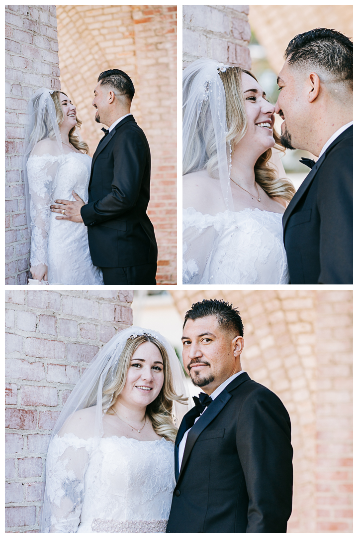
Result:
{"label": "black tuxedo jacket on man touching noses with the woman", "polygon": [[353,125],[318,159],[282,224],[291,284],[353,284]]}

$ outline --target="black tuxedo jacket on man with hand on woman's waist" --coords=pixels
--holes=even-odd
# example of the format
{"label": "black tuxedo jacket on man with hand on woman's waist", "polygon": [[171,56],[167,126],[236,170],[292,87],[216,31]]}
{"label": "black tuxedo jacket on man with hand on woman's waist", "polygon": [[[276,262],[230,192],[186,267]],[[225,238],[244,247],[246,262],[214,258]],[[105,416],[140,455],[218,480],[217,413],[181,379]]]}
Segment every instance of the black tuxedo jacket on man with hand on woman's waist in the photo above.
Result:
{"label": "black tuxedo jacket on man with hand on woman's waist", "polygon": [[103,137],[92,158],[89,200],[81,208],[93,265],[155,263],[157,243],[147,215],[150,151],[132,115]]}

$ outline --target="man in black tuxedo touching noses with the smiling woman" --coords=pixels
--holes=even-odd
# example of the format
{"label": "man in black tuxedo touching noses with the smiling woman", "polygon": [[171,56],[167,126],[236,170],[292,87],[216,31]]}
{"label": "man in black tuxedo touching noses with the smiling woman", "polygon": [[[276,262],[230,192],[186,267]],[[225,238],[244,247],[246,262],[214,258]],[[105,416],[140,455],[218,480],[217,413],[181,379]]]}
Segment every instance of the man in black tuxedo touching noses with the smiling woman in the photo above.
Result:
{"label": "man in black tuxedo touching noses with the smiling woman", "polygon": [[290,41],[277,84],[281,143],[316,155],[283,215],[291,284],[353,284],[353,43],[318,28]]}

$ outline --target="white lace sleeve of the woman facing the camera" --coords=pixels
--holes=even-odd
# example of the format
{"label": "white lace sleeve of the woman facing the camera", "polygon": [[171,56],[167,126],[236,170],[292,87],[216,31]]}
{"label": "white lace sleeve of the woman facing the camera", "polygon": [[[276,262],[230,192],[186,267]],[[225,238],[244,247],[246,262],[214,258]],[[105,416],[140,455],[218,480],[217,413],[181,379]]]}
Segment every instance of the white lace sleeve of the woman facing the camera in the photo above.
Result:
{"label": "white lace sleeve of the woman facing the camera", "polygon": [[75,533],[84,499],[89,444],[74,434],[54,436],[46,461],[43,527],[46,533]]}

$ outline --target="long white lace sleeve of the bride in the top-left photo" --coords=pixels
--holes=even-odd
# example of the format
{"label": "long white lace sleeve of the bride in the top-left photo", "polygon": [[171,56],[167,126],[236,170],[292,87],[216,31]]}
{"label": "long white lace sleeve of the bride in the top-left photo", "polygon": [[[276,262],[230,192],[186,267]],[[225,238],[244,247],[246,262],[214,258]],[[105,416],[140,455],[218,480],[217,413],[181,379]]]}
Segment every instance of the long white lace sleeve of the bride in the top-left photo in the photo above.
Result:
{"label": "long white lace sleeve of the bride in the top-left photo", "polygon": [[28,192],[31,214],[32,266],[47,265],[47,238],[50,223],[50,204],[53,202],[55,177],[59,157],[33,155],[27,161]]}

